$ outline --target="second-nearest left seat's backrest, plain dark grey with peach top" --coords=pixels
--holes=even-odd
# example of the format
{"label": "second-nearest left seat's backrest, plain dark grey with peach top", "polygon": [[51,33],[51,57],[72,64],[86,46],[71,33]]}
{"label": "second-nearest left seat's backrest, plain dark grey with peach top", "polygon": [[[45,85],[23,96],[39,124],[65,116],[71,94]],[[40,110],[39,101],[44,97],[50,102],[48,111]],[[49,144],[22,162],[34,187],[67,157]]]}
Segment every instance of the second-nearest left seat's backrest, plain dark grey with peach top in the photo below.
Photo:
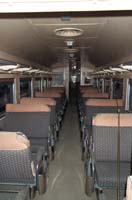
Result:
{"label": "second-nearest left seat's backrest, plain dark grey with peach top", "polygon": [[46,105],[7,104],[5,130],[24,132],[29,139],[48,138],[50,114]]}

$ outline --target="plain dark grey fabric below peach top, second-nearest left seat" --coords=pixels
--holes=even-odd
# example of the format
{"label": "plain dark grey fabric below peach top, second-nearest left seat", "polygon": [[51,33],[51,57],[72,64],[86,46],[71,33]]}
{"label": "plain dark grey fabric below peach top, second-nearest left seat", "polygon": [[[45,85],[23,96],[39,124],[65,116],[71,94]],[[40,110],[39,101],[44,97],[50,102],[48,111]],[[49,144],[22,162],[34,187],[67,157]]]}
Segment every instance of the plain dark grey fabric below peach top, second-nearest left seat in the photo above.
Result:
{"label": "plain dark grey fabric below peach top, second-nearest left seat", "polygon": [[33,145],[47,145],[49,126],[50,112],[6,113],[5,130],[24,132]]}

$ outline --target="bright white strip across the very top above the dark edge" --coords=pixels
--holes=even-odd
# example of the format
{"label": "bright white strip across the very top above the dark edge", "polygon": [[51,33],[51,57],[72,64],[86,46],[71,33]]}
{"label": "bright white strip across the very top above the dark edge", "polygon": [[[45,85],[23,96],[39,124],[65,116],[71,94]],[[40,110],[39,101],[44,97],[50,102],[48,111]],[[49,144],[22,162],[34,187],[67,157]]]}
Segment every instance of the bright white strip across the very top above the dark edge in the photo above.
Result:
{"label": "bright white strip across the very top above the dark edge", "polygon": [[131,0],[0,0],[1,13],[132,10]]}

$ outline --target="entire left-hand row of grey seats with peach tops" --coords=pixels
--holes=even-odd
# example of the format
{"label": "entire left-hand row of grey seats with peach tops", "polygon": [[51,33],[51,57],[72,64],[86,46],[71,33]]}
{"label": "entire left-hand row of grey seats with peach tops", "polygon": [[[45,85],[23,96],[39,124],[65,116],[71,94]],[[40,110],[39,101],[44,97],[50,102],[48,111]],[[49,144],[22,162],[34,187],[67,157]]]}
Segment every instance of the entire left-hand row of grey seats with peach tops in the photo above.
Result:
{"label": "entire left-hand row of grey seats with peach tops", "polygon": [[34,191],[46,191],[47,169],[54,159],[66,97],[64,88],[36,92],[35,96],[22,98],[20,104],[7,104],[0,120],[0,196],[7,196],[8,190],[11,197],[18,190],[20,194],[13,194],[20,197],[24,188],[33,198]]}

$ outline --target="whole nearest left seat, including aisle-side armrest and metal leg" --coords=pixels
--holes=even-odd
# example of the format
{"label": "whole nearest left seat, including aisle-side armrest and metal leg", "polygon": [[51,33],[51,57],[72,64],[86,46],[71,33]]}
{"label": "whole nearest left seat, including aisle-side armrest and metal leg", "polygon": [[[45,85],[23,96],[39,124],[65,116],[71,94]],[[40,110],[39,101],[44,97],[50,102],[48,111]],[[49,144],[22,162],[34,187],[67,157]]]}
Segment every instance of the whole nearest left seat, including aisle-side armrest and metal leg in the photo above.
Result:
{"label": "whole nearest left seat, including aisle-side armrest and metal leg", "polygon": [[10,193],[11,198],[27,200],[28,196],[34,196],[35,190],[39,194],[45,192],[47,163],[43,149],[36,152],[35,148],[31,153],[30,141],[20,132],[0,132],[0,195],[3,198],[8,199]]}

